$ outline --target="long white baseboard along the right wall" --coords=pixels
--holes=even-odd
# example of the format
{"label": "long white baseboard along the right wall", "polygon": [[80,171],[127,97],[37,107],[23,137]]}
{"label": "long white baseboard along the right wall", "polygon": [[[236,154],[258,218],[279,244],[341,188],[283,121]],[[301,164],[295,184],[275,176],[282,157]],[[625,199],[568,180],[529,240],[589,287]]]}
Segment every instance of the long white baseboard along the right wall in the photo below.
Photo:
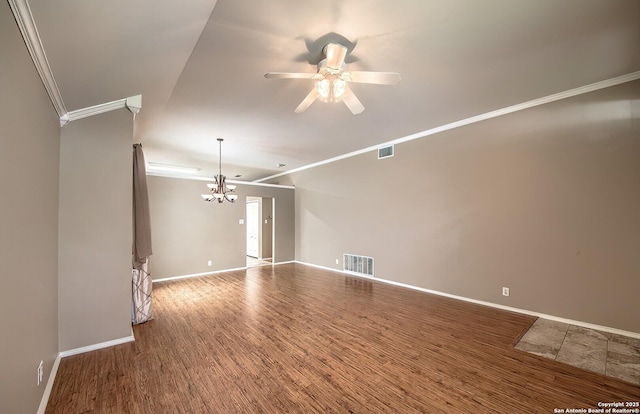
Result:
{"label": "long white baseboard along the right wall", "polygon": [[602,331],[602,332],[609,332],[609,333],[613,333],[613,334],[629,336],[631,338],[640,339],[640,333],[638,333],[638,332],[624,331],[622,329],[611,328],[609,326],[596,325],[596,324],[592,324],[592,323],[589,323],[589,322],[576,321],[576,320],[573,320],[573,319],[561,318],[559,316],[547,315],[547,314],[544,314],[544,313],[534,312],[534,311],[530,311],[530,310],[526,310],[526,309],[520,309],[520,308],[511,307],[511,306],[500,305],[498,303],[485,302],[485,301],[481,301],[481,300],[466,298],[464,296],[452,295],[452,294],[445,293],[445,292],[440,292],[440,291],[437,291],[437,290],[425,289],[425,288],[421,288],[421,287],[418,287],[418,286],[408,285],[406,283],[394,282],[393,280],[380,279],[380,278],[377,278],[377,277],[370,277],[370,276],[360,275],[360,274],[357,274],[357,273],[346,272],[346,271],[341,270],[341,269],[334,269],[334,268],[331,268],[331,267],[315,265],[315,264],[312,264],[312,263],[301,262],[301,261],[298,261],[298,260],[296,260],[295,262],[303,264],[303,265],[311,266],[311,267],[316,267],[316,268],[323,269],[323,270],[329,270],[329,271],[341,273],[341,274],[348,275],[348,276],[355,276],[355,277],[361,277],[361,278],[364,278],[364,279],[377,280],[379,282],[388,283],[390,285],[395,285],[395,286],[400,286],[400,287],[404,287],[404,288],[408,288],[408,289],[418,290],[420,292],[431,293],[431,294],[438,295],[438,296],[445,296],[447,298],[462,300],[462,301],[465,301],[465,302],[471,302],[471,303],[475,303],[477,305],[489,306],[489,307],[492,307],[492,308],[502,309],[502,310],[506,310],[506,311],[509,311],[509,312],[522,313],[524,315],[535,316],[535,317],[543,318],[543,319],[550,319],[552,321],[562,322],[562,323],[566,323],[566,324],[569,324],[569,325],[582,326],[584,328],[595,329],[595,330]]}

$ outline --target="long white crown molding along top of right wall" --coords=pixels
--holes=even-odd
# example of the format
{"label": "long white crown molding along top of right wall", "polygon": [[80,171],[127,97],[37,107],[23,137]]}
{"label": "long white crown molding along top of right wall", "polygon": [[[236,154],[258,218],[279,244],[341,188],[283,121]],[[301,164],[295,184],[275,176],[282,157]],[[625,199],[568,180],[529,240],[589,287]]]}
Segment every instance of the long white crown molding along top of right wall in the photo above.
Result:
{"label": "long white crown molding along top of right wall", "polygon": [[407,135],[401,138],[394,139],[392,141],[383,142],[382,144],[374,145],[367,148],[362,148],[360,150],[356,150],[353,152],[349,152],[347,154],[338,155],[337,157],[329,158],[323,161],[314,162],[312,164],[304,165],[302,167],[294,168],[289,171],[283,171],[278,174],[270,175],[269,177],[260,178],[258,180],[253,181],[254,183],[261,183],[264,181],[269,181],[274,178],[282,177],[285,175],[293,174],[299,171],[308,170],[310,168],[319,167],[321,165],[330,164],[332,162],[344,160],[346,158],[355,157],[356,155],[364,154],[370,151],[377,151],[378,148],[386,146],[386,145],[394,145],[400,144],[407,141],[413,141],[414,139],[425,138],[430,135],[435,135],[440,132],[448,131],[450,129],[460,128],[465,125],[475,124],[476,122],[485,121],[491,118],[497,118],[502,115],[511,114],[518,111],[523,111],[525,109],[533,108],[536,106],[548,104],[551,102],[559,101],[562,99],[571,98],[573,96],[582,95],[589,92],[595,92],[600,89],[609,88],[612,86],[620,85],[627,82],[632,82],[640,79],[640,71],[627,73],[625,75],[617,76],[615,78],[605,79],[600,82],[595,82],[589,85],[580,86],[578,88],[570,89],[567,91],[559,92],[553,95],[544,96],[542,98],[533,99],[531,101],[523,102],[521,104],[508,106],[506,108],[497,109],[495,111],[486,112],[484,114],[472,116],[470,118],[461,119],[459,121],[451,122],[449,124],[441,125],[435,128],[427,129],[425,131],[416,132],[415,134]]}

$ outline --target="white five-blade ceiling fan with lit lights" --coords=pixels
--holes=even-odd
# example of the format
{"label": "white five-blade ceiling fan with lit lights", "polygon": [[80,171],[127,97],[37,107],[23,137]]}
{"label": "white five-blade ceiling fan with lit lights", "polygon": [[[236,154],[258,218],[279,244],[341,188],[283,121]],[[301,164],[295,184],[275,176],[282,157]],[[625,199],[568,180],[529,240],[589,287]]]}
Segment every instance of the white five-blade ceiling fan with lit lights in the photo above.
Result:
{"label": "white five-blade ceiling fan with lit lights", "polygon": [[329,43],[323,48],[326,59],[318,63],[317,73],[268,72],[265,78],[273,79],[312,79],[316,84],[311,92],[300,102],[294,112],[302,113],[319,99],[323,102],[344,102],[347,108],[357,115],[364,106],[349,88],[349,82],[371,83],[377,85],[397,85],[400,74],[395,72],[347,71],[344,58],[348,49],[338,43]]}

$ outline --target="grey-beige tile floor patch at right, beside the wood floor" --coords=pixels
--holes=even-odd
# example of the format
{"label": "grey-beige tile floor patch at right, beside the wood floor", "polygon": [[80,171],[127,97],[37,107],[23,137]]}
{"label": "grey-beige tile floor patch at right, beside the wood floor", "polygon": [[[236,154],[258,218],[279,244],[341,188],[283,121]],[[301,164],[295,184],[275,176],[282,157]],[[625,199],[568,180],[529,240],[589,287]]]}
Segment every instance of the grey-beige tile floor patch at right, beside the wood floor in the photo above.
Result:
{"label": "grey-beige tile floor patch at right, beside the wood floor", "polygon": [[640,385],[640,339],[538,318],[516,349]]}

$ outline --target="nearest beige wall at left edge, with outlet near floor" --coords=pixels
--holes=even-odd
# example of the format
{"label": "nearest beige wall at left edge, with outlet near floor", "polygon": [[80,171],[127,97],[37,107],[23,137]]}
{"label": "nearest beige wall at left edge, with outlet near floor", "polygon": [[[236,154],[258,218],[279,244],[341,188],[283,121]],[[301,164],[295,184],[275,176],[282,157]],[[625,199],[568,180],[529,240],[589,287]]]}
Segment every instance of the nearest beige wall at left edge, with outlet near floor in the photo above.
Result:
{"label": "nearest beige wall at left edge, with outlet near floor", "polygon": [[0,108],[0,412],[35,413],[58,355],[60,124],[7,2]]}

